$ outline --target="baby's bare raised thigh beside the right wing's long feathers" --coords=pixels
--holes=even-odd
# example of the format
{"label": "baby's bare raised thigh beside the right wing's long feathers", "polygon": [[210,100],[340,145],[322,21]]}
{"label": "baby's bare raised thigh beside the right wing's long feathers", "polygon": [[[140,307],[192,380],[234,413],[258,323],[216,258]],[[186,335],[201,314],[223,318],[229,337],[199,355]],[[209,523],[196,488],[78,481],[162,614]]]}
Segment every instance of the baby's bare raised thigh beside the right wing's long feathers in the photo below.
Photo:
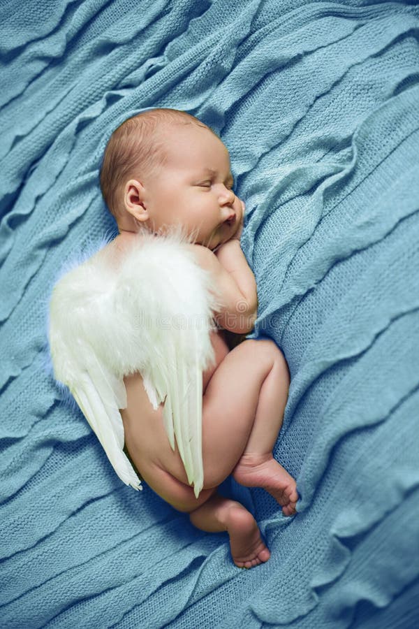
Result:
{"label": "baby's bare raised thigh beside the right wing's long feathers", "polygon": [[246,447],[260,388],[280,349],[270,340],[245,340],[215,370],[203,396],[204,487],[221,484]]}

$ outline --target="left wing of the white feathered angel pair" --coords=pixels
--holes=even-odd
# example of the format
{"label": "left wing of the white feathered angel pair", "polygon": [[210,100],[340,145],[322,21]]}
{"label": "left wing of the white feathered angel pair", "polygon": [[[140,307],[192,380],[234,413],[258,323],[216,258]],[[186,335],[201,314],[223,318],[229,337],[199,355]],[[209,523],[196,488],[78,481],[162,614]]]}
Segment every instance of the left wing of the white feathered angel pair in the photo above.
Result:
{"label": "left wing of the white feathered angel pair", "polygon": [[[103,315],[108,312],[112,317],[112,312],[105,310],[110,296],[98,292],[95,275],[97,269],[84,263],[64,275],[52,291],[49,344],[54,377],[68,386],[117,475],[124,483],[142,489],[123,451],[119,408],[126,407],[124,382],[115,373],[116,362],[101,360],[98,352],[112,332],[106,326],[95,329],[93,319],[104,324]],[[112,291],[112,285],[108,290]]]}

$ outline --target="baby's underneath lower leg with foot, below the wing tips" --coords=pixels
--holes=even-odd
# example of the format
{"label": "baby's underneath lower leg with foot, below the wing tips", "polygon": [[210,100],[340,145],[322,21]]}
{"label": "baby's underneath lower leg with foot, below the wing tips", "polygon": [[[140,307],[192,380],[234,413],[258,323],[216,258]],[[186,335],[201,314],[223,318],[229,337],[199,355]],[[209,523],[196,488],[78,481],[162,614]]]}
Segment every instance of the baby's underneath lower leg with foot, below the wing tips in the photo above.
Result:
{"label": "baby's underneath lower leg with foot, below the wing tips", "polygon": [[240,503],[214,493],[189,514],[191,523],[208,533],[228,532],[235,565],[250,568],[270,558],[252,514]]}

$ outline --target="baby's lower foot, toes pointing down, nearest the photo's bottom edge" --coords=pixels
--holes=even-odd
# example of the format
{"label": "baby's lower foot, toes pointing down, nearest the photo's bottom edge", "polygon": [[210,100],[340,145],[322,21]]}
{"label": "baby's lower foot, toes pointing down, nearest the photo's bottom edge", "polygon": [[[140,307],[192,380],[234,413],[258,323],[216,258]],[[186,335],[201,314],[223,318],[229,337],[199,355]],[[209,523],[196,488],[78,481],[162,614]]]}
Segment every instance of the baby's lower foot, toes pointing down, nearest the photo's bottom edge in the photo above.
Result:
{"label": "baby's lower foot, toes pointing down, nearest the photo's bottom edge", "polygon": [[230,536],[230,551],[237,567],[251,568],[270,558],[270,551],[260,537],[258,525],[244,507],[228,509],[226,526]]}

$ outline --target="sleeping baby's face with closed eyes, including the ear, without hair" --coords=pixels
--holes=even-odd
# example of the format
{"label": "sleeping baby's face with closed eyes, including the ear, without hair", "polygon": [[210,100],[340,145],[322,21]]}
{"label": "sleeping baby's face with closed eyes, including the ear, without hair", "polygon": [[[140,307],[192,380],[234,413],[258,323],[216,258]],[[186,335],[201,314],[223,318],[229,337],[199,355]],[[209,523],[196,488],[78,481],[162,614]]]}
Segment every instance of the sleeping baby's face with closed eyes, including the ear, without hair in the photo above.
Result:
{"label": "sleeping baby's face with closed eyes, including the ear, without hair", "polygon": [[232,190],[228,150],[200,126],[174,126],[165,140],[167,164],[142,180],[136,217],[153,231],[180,223],[214,250],[234,236],[244,211]]}

